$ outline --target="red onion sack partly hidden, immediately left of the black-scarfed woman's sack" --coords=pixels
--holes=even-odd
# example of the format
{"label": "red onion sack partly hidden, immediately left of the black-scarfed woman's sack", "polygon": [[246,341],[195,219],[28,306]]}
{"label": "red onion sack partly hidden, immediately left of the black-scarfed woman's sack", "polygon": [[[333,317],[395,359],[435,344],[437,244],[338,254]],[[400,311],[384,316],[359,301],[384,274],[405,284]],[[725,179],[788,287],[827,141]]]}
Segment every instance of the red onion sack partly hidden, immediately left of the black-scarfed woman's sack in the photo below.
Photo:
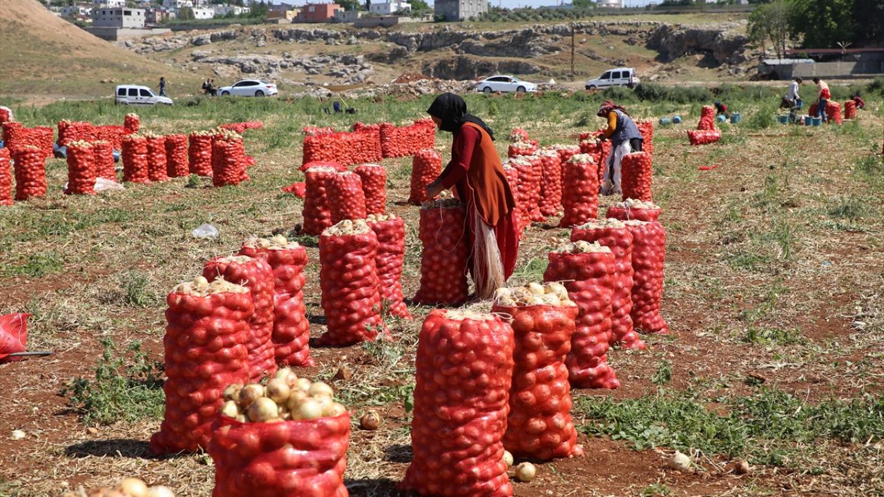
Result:
{"label": "red onion sack partly hidden, immediately left of the black-scarfed woman's sack", "polygon": [[405,261],[405,221],[390,214],[369,214],[366,219],[377,235],[377,280],[381,300],[391,316],[410,318],[402,300],[402,264]]}

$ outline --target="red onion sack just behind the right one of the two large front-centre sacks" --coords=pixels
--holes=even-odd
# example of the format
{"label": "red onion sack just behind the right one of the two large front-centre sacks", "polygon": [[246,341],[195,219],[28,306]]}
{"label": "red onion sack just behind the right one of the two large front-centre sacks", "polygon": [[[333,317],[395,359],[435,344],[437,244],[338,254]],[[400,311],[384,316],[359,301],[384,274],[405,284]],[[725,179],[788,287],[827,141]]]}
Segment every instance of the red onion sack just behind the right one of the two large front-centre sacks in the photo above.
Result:
{"label": "red onion sack just behind the right one of the two large front-centre sacks", "polygon": [[571,386],[617,388],[620,380],[607,363],[611,341],[611,299],[614,286],[614,258],[610,248],[575,241],[549,254],[545,281],[560,281],[577,304],[571,352],[565,363]]}

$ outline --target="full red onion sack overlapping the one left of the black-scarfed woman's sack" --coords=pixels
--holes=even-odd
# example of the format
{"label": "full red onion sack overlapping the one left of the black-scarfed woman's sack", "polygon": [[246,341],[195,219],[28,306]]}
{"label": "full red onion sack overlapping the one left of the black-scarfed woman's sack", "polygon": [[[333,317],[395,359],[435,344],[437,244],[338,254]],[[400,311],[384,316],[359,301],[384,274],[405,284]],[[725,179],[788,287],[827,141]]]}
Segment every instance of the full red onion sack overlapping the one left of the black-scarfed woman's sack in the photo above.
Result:
{"label": "full red onion sack overlapping the one left of the black-scarfed woman's sack", "polygon": [[377,235],[365,219],[346,219],[319,237],[319,286],[327,331],[317,343],[347,346],[389,335],[381,318]]}

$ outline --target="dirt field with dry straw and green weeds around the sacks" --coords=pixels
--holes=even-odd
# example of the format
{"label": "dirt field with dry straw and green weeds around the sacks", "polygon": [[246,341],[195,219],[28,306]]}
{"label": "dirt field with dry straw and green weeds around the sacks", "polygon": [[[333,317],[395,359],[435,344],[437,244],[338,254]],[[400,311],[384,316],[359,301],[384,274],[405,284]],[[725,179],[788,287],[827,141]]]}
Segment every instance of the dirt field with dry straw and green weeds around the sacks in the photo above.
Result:
{"label": "dirt field with dry straw and green weeds around the sacks", "polygon": [[[576,143],[579,131],[602,125],[597,100],[474,96],[469,104],[498,131],[505,154],[513,126],[541,144]],[[759,125],[764,119],[752,116],[762,103],[737,102],[731,106],[743,111],[743,123],[723,126],[723,140],[704,147],[690,147],[684,132],[696,126],[698,103],[628,105],[639,118],[685,118],[655,134],[653,194],[667,229],[662,313],[672,334],[645,337],[641,353],[609,352],[622,386],[573,392],[586,455],[539,464],[538,478],[516,484],[516,495],[884,495],[884,182],[873,156],[884,119],[881,99],[867,100],[858,122],[815,128]],[[429,103],[353,104],[357,117],[374,122],[422,117]],[[57,103],[19,119],[121,124],[126,111]],[[352,117],[324,115],[313,101],[275,99],[141,111],[142,128],[159,133],[252,119],[265,127],[246,134],[258,164],[240,187],[178,179],[65,197],[65,162],[50,160],[47,199],[0,209],[0,313],[34,314],[29,348],[54,351],[0,364],[0,495],[57,495],[129,475],[181,496],[210,495],[207,455],[156,458],[147,448],[162,419],[162,391],[137,380],[161,371],[164,296],[248,235],[293,234],[301,201],[280,188],[301,179],[301,126],[345,127]],[[449,140],[437,135],[443,157]],[[711,164],[718,167],[698,169]],[[410,161],[385,165],[388,209],[408,229],[410,296],[420,276],[418,210],[404,204]],[[554,239],[568,236],[551,227],[556,221],[530,227],[514,282],[541,277]],[[203,222],[217,226],[217,240],[190,235]],[[297,240],[309,247],[305,298],[318,336],[316,240]],[[352,495],[394,495],[411,457],[406,407],[428,309],[411,311],[413,321],[390,324],[394,341],[314,348],[319,365],[300,372],[328,379],[346,366],[353,377],[332,384],[354,418],[367,409],[384,417],[377,432],[354,424]],[[106,349],[110,343],[116,350]],[[133,343],[141,353],[128,351]],[[72,400],[70,387],[61,394],[78,377],[93,389],[86,403]],[[27,436],[11,440],[13,430]],[[694,471],[667,469],[676,448],[693,456]],[[749,474],[735,474],[730,464],[739,459],[751,463]]]}

